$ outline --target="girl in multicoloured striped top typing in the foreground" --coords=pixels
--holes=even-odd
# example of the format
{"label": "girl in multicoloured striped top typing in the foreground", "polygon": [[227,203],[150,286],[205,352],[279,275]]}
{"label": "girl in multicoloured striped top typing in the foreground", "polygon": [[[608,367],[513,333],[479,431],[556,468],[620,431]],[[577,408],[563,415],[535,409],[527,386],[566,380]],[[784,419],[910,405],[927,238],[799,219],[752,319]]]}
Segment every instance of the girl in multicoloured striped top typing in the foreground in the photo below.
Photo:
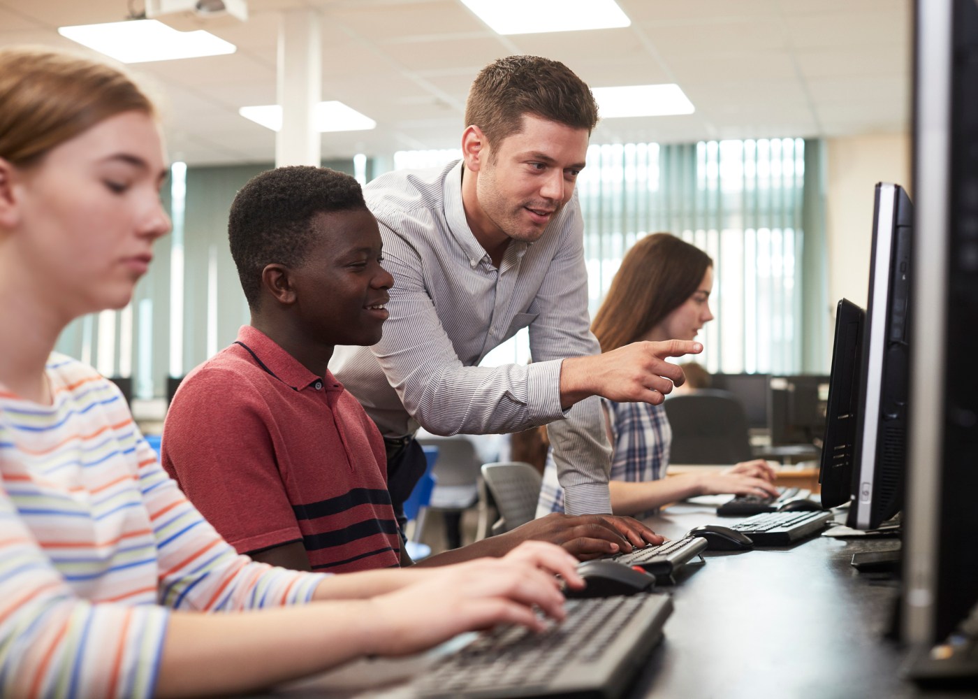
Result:
{"label": "girl in multicoloured striped top typing in the foreground", "polygon": [[237,555],[119,392],[52,353],[73,318],[129,303],[169,230],[165,176],[153,105],[127,76],[0,50],[0,696],[241,692],[499,622],[539,627],[534,604],[561,617],[551,574],[583,582],[542,542],[344,576]]}

